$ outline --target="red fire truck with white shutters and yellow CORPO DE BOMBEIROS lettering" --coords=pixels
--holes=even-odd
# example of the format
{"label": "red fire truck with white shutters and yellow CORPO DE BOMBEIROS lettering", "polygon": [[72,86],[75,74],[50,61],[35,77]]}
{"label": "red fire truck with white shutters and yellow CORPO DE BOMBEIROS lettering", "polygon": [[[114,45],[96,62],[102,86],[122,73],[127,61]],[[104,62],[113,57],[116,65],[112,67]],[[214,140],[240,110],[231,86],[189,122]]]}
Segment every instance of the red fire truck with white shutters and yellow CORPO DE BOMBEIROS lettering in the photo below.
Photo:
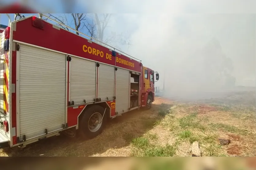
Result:
{"label": "red fire truck with white shutters and yellow CORPO DE BOMBEIROS lettering", "polygon": [[0,33],[2,147],[24,147],[60,132],[91,139],[109,118],[150,109],[157,72],[42,17],[51,20],[21,17]]}

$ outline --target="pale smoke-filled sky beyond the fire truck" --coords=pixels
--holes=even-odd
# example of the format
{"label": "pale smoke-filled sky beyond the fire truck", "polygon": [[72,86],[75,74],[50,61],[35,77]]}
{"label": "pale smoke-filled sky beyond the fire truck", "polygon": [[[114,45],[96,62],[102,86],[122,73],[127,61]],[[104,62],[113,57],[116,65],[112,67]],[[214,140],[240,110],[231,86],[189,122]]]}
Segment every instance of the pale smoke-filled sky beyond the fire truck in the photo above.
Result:
{"label": "pale smoke-filled sky beyond the fire truck", "polygon": [[[65,9],[113,13],[104,36],[116,33],[129,37],[132,44],[129,48],[113,45],[158,71],[160,80],[155,85],[162,88],[165,77],[165,87],[172,94],[198,92],[202,88],[220,90],[213,78],[206,77],[218,72],[215,69],[221,64],[220,55],[231,59],[230,74],[235,77],[236,85],[256,84],[256,1],[76,0],[70,4],[67,0],[66,6],[59,0],[30,2],[37,4],[32,5],[35,8],[40,6],[41,10],[57,13],[66,12]],[[54,4],[49,5],[50,2]],[[8,21],[2,16],[0,22]],[[219,42],[220,55],[216,49],[204,51],[212,39]]]}

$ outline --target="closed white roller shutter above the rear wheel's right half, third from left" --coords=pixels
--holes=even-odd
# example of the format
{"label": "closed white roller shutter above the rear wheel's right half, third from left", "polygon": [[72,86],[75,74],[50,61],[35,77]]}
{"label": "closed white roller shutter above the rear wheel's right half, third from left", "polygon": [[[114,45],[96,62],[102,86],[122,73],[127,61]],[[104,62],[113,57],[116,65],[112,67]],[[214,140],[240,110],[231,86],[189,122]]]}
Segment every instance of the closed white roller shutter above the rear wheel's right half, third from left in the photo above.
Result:
{"label": "closed white roller shutter above the rear wheel's right half, third from left", "polygon": [[98,98],[113,99],[115,89],[115,67],[100,64],[98,71]]}

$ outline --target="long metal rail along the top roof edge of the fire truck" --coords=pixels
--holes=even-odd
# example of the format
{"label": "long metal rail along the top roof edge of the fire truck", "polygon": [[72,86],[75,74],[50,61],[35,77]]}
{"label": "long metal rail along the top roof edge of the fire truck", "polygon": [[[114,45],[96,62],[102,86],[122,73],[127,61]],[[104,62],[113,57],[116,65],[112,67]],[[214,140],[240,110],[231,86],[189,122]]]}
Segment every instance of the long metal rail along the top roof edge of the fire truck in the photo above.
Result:
{"label": "long metal rail along the top roof edge of the fire truck", "polygon": [[[86,35],[86,34],[80,32],[80,31],[77,31],[77,30],[75,30],[75,29],[73,29],[73,28],[71,28],[71,27],[69,27],[69,26],[67,26],[67,25],[65,25],[65,24],[62,24],[62,23],[60,23],[60,22],[58,22],[58,21],[56,21],[56,20],[50,18],[49,16],[46,16],[46,15],[44,15],[44,14],[42,14],[42,13],[38,13],[38,15],[39,15],[39,18],[40,18],[40,19],[42,19],[42,17],[44,16],[45,18],[48,18],[49,20],[52,20],[52,21],[54,21],[54,22],[56,22],[56,23],[58,23],[58,24],[60,24],[60,25],[62,25],[62,26],[64,26],[64,27],[67,27],[67,28],[69,28],[69,29],[71,29],[71,30],[73,30],[73,31],[75,31],[75,32],[78,32],[79,34],[82,34],[82,35],[84,35],[84,36],[86,36],[86,37],[88,37],[88,38],[90,38],[90,39],[95,40],[95,42],[100,42],[100,43],[102,43],[102,44],[104,44],[104,45],[107,45],[108,47],[113,48],[114,51],[117,50],[117,51],[119,51],[120,53],[123,53],[124,56],[127,56],[127,57],[129,57],[129,58],[136,59],[136,60],[138,60],[138,61],[141,62],[141,60],[139,60],[139,59],[137,59],[137,58],[135,58],[135,57],[133,57],[133,56],[130,56],[129,54],[126,54],[125,52],[122,52],[122,51],[116,49],[115,47],[112,47],[111,45],[108,45],[108,44],[106,44],[106,43],[104,43],[104,42],[101,42],[101,41],[95,39],[95,38],[92,38],[92,37],[90,37],[89,35]],[[97,43],[97,44],[98,44],[98,43]],[[99,45],[100,45],[100,44],[99,44]]]}

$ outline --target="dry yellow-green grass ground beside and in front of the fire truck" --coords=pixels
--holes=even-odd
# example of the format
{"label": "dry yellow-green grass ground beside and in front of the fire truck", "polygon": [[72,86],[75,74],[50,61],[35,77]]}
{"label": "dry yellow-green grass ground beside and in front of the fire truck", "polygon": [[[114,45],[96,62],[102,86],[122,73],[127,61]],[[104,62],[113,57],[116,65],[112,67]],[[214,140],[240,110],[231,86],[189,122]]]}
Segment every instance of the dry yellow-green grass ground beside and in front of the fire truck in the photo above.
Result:
{"label": "dry yellow-green grass ground beside and in front of the fire truck", "polygon": [[[83,141],[52,137],[0,156],[190,156],[200,143],[203,156],[255,156],[254,108],[186,104],[156,98],[151,110],[132,111],[109,122],[104,132]],[[231,139],[227,146],[218,137]]]}

